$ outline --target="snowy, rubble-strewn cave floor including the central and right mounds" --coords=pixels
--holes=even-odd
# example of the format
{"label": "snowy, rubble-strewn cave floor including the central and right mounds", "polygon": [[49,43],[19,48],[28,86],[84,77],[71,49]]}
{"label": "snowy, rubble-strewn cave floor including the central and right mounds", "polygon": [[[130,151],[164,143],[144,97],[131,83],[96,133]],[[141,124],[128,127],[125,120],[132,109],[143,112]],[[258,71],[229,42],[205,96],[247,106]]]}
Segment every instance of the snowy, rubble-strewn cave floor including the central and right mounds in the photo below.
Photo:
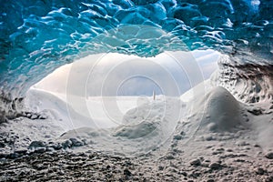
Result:
{"label": "snowy, rubble-strewn cave floor including the central and right mounds", "polygon": [[[270,101],[247,106],[206,83],[180,98],[120,97],[119,122],[120,115],[98,111],[101,98],[86,99],[96,116],[87,122],[68,106],[70,117],[83,118],[75,126],[62,117],[66,99],[47,95],[35,92],[51,101],[36,105],[46,119],[1,126],[1,181],[273,181]],[[113,127],[97,125],[103,117]]]}

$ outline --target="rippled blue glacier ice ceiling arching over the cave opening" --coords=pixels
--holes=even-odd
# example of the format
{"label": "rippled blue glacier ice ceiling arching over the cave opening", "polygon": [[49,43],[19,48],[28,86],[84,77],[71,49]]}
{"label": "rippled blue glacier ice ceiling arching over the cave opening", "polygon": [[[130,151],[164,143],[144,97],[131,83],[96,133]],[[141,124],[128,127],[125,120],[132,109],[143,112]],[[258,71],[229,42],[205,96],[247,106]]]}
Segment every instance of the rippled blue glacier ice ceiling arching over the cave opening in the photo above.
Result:
{"label": "rippled blue glacier ice ceiling arching over the cave opening", "polygon": [[[272,65],[272,0],[0,0],[0,86],[15,96],[89,54],[212,48]],[[235,59],[238,60],[238,59]]]}

